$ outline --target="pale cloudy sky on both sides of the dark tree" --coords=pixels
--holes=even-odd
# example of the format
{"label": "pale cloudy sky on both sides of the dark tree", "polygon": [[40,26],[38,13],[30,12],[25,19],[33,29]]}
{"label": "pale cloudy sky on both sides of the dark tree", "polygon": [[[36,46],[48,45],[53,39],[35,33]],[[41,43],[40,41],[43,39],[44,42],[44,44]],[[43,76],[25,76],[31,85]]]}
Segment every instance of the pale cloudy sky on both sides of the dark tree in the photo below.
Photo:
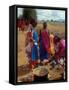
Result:
{"label": "pale cloudy sky on both sides of the dark tree", "polygon": [[[23,8],[18,8],[18,17],[22,15]],[[48,10],[48,9],[36,9],[38,20],[58,20],[65,21],[65,11],[63,10]]]}

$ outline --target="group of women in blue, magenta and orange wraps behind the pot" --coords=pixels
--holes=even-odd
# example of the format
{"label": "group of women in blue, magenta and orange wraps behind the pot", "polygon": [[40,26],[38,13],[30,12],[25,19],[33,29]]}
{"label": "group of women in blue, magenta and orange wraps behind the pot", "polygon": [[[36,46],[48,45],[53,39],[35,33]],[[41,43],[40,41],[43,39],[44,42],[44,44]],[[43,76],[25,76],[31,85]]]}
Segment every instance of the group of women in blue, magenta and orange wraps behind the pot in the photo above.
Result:
{"label": "group of women in blue, magenta and orange wraps behind the pot", "polygon": [[32,68],[38,64],[49,63],[52,57],[56,63],[65,58],[65,39],[58,37],[57,34],[49,33],[47,22],[43,23],[43,29],[38,34],[37,22],[33,19],[27,25],[26,53]]}

